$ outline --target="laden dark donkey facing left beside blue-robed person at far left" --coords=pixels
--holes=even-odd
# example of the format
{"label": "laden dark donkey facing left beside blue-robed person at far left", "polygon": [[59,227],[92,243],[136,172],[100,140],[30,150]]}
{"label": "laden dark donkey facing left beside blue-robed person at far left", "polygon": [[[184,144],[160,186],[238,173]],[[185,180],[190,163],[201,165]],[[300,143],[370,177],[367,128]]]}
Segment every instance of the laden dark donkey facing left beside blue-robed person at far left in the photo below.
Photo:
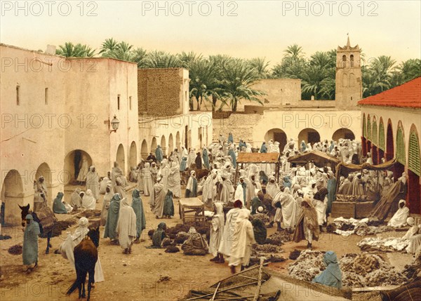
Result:
{"label": "laden dark donkey facing left beside blue-robed person at far left", "polygon": [[49,207],[43,207],[37,212],[32,212],[29,210],[29,204],[27,206],[18,205],[21,212],[20,217],[22,218],[22,226],[25,227],[25,220],[28,214],[32,215],[35,222],[38,222],[39,232],[41,232],[41,237],[47,237],[47,249],[46,254],[50,253],[50,248],[53,248],[50,243],[51,236],[53,236],[53,228],[57,219]]}

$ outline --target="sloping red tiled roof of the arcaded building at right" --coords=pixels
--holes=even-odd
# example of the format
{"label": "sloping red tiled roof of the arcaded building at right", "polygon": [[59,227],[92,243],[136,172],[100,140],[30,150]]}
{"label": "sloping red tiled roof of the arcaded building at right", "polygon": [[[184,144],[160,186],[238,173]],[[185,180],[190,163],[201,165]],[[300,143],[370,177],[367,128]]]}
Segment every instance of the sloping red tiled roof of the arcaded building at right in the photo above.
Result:
{"label": "sloping red tiled roof of the arcaded building at right", "polygon": [[390,90],[364,98],[359,105],[378,105],[383,107],[421,108],[421,77]]}

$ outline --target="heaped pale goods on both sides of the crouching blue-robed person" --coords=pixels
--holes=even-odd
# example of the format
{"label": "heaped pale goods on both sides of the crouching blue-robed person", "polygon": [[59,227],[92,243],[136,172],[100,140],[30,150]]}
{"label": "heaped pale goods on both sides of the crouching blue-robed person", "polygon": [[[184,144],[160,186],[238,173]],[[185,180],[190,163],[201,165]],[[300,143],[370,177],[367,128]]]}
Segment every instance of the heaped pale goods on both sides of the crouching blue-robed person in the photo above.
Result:
{"label": "heaped pale goods on both sides of the crouching blue-robed person", "polygon": [[[288,268],[290,276],[312,281],[326,266],[323,264],[324,252],[304,250]],[[401,285],[407,277],[396,272],[391,265],[375,254],[345,254],[338,261],[342,271],[343,287]]]}

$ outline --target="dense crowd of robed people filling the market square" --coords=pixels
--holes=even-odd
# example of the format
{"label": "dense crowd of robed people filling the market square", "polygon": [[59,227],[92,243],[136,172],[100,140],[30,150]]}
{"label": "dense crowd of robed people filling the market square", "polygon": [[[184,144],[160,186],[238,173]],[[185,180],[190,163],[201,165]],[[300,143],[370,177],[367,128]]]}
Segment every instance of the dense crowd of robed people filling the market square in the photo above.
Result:
{"label": "dense crowd of robed people filling the market square", "polygon": [[[394,183],[393,173],[389,170],[382,172],[380,176],[370,170],[358,170],[350,172],[346,178],[340,176],[337,179],[333,166],[318,167],[314,163],[296,166],[288,161],[292,156],[305,154],[313,149],[343,163],[373,164],[370,153],[362,156],[361,143],[355,140],[323,140],[313,144],[302,141],[300,145],[296,145],[290,139],[282,149],[279,142],[269,140],[256,148],[243,140],[236,144],[229,133],[227,140],[220,135],[218,142],[203,147],[201,151],[182,146],[165,156],[158,145],[154,154],[150,153],[145,161],[142,160],[138,166],[131,168],[128,180],[116,162],[104,178],[100,178],[95,166],[91,166],[86,173],[79,172],[79,175],[83,174],[83,178],[79,177],[78,180],[86,186],[86,192],[76,188],[69,204],[62,201],[63,194],[60,192],[53,202],[53,210],[55,213],[69,213],[72,210],[95,209],[100,194],[103,194],[100,223],[105,226],[104,237],[109,238],[112,243],[120,244],[123,253],[130,254],[133,243],[140,242],[140,234],[146,226],[141,195],[149,197],[150,209],[160,219],[173,217],[173,198],[191,198],[201,194],[203,204],[213,211],[210,241],[208,248],[206,247],[206,251],[214,256],[210,261],[223,263],[226,258],[235,273],[235,267],[241,266],[243,269],[250,261],[251,246],[257,239],[255,225],[264,228],[276,225],[278,231],[293,234],[295,242],[307,241],[307,248],[312,249],[312,243],[319,239],[320,232],[326,231],[324,227],[338,194],[387,194]],[[274,163],[246,163],[237,166],[239,152],[279,153],[279,170],[276,170]],[[236,179],[238,181],[234,182]],[[405,184],[405,173],[398,180]],[[131,204],[125,189],[129,181],[136,182]],[[184,195],[182,185],[185,185]],[[36,206],[39,208],[41,203],[46,202],[47,196],[43,178],[34,182],[34,189]],[[226,215],[223,210],[225,207],[232,208]],[[265,222],[255,221],[252,224],[250,215],[257,214],[266,215],[269,223],[265,225]],[[408,225],[407,219],[408,208],[405,201],[401,201],[389,225],[402,227]],[[60,246],[60,253],[72,265],[74,262],[72,263],[69,251],[86,232],[86,227],[86,220],[80,220],[81,229],[78,228],[73,235],[69,234],[68,240],[71,242],[67,241],[66,244],[65,241]],[[160,246],[165,237],[165,228],[166,224],[161,222],[154,233],[154,245]],[[414,228],[413,232],[416,235],[418,228]],[[415,241],[413,246],[419,244],[421,243]],[[410,248],[411,252],[415,248],[413,246]],[[333,281],[331,276],[338,274],[335,254],[326,253],[325,260],[333,271],[330,276],[320,276],[315,281]],[[98,277],[101,275],[99,272]],[[338,285],[338,281],[333,282],[335,286]]]}

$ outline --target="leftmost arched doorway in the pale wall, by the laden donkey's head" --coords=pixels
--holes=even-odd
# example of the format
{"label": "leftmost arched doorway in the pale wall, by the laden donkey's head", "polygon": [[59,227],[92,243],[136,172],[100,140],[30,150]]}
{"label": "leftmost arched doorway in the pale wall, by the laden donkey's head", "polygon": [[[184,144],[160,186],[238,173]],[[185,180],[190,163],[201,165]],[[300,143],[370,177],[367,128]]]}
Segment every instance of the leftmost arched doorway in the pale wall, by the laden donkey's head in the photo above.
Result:
{"label": "leftmost arched doorway in the pale wall, by the laden donkey's head", "polygon": [[[23,185],[22,177],[18,170],[9,170],[4,178],[3,185],[1,187],[1,225],[19,225],[20,220],[20,208],[18,205],[26,205],[23,203]],[[33,209],[33,204],[31,206]]]}

